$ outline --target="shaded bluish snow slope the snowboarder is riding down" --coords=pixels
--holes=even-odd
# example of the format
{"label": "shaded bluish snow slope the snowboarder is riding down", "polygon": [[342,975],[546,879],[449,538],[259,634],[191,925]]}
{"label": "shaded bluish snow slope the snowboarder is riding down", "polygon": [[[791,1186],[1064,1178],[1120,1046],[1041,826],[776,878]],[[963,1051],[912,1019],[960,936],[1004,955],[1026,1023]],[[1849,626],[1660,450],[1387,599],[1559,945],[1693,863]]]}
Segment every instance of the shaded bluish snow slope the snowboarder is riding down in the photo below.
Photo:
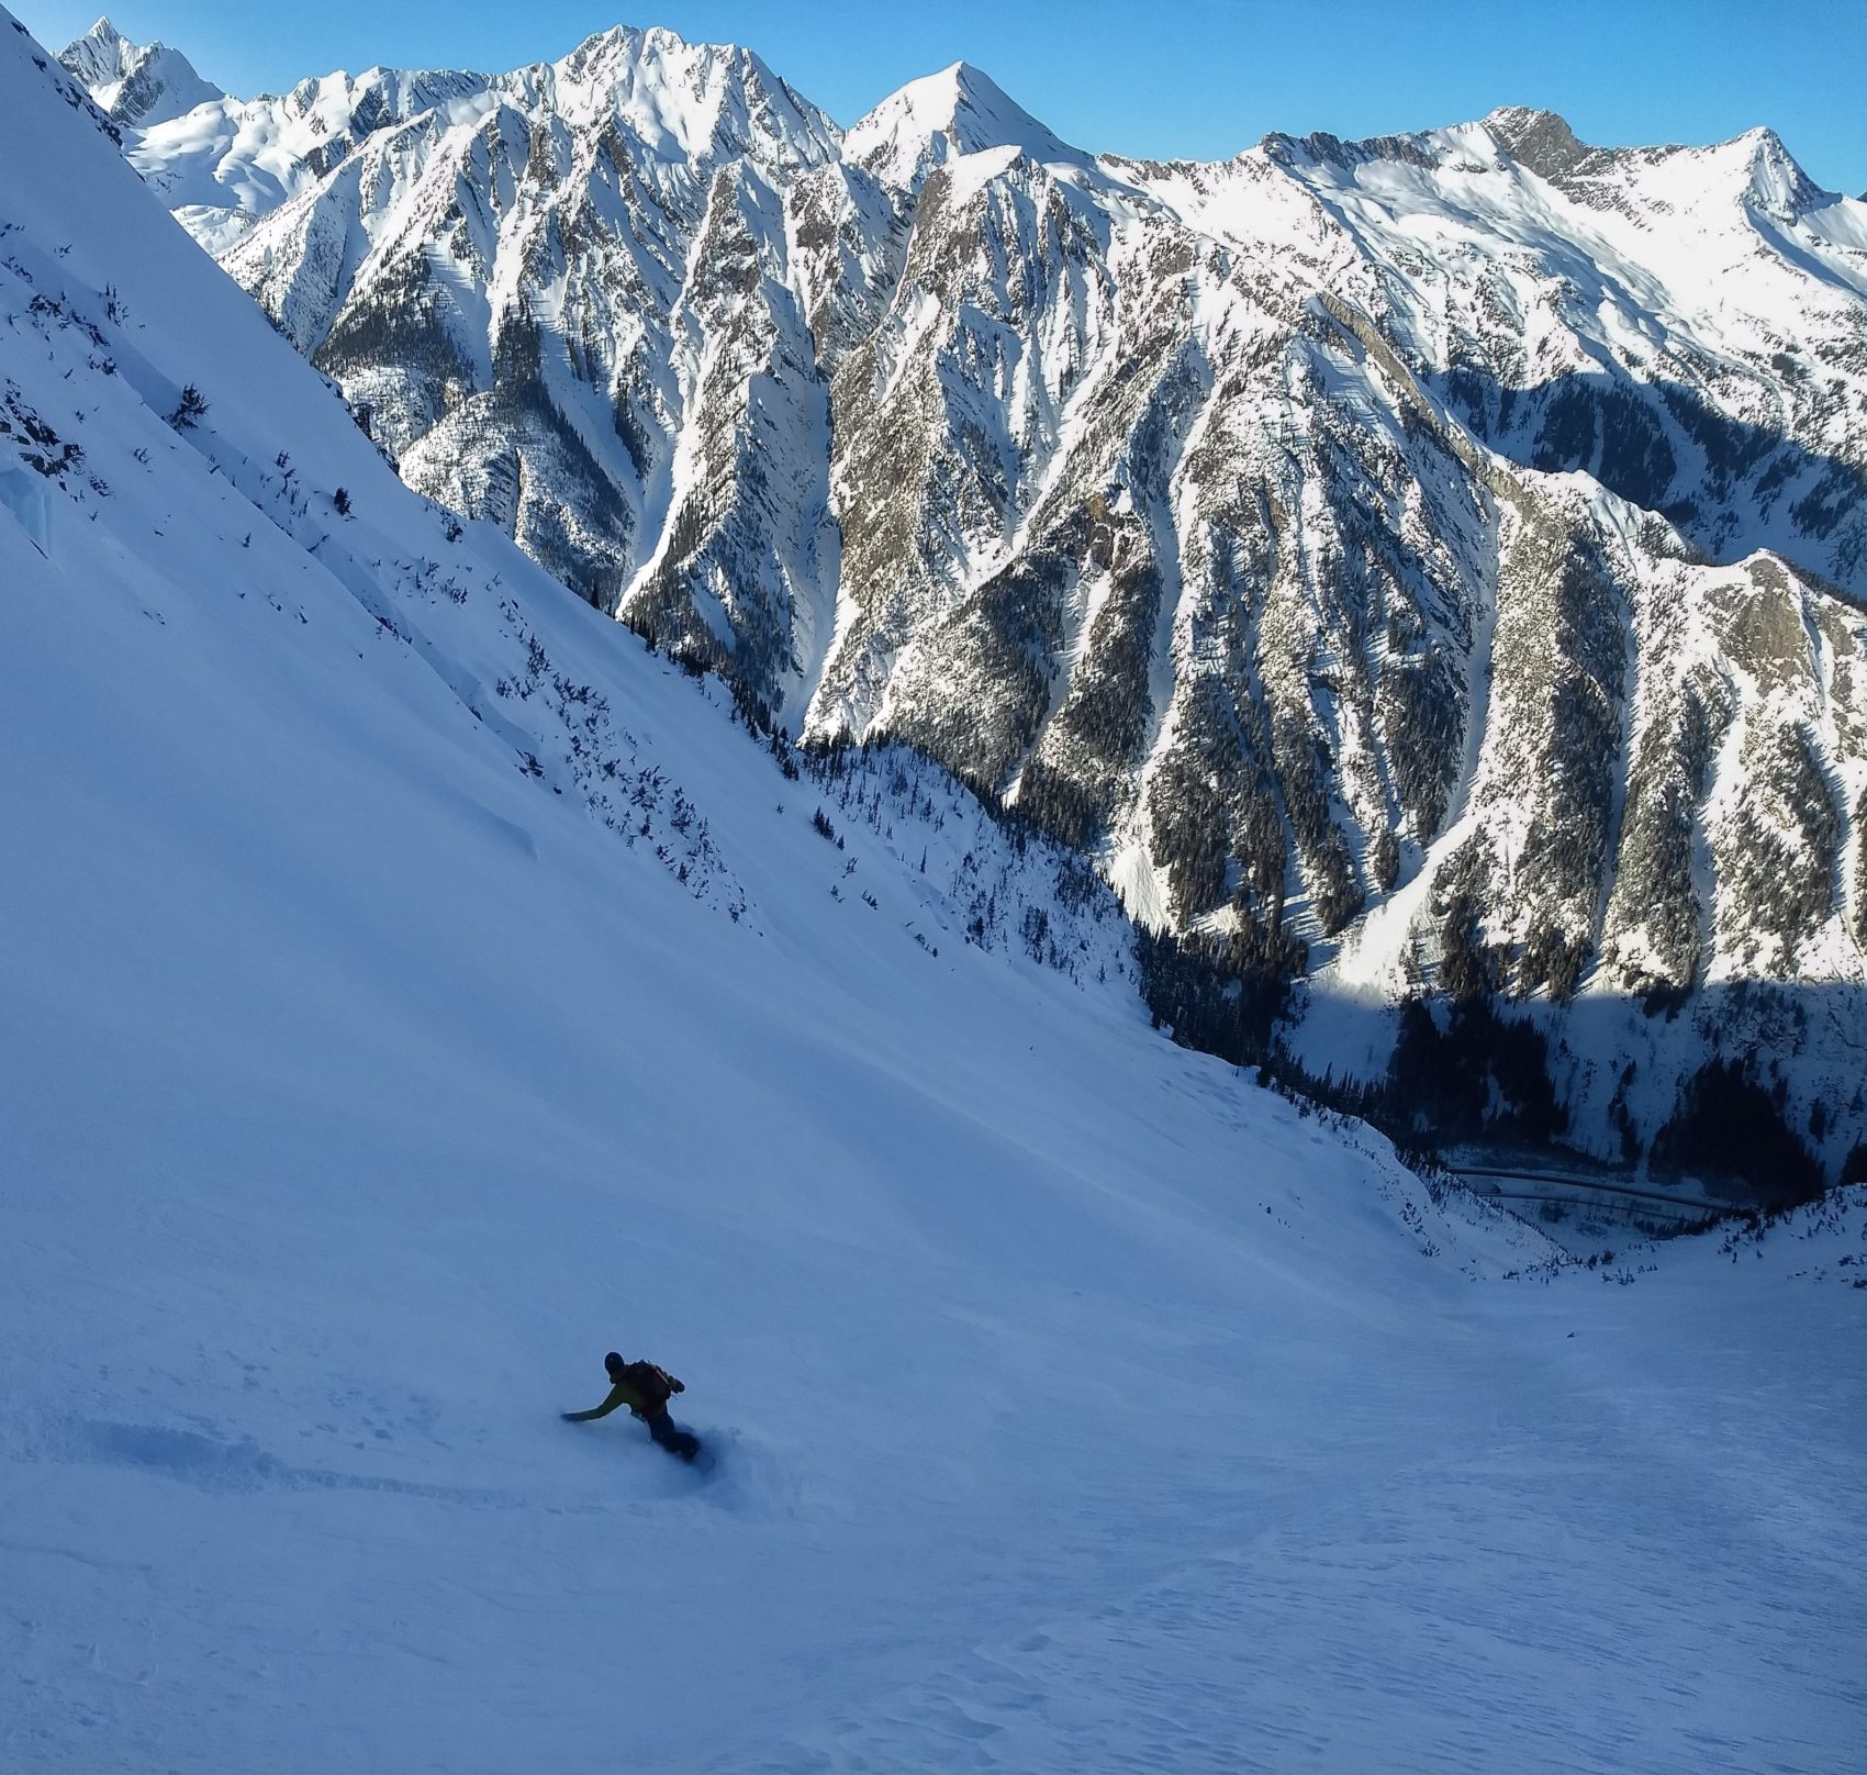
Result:
{"label": "shaded bluish snow slope the snowboarder is riding down", "polygon": [[1861,1193],[1551,1267],[0,166],[0,1766],[1858,1766]]}

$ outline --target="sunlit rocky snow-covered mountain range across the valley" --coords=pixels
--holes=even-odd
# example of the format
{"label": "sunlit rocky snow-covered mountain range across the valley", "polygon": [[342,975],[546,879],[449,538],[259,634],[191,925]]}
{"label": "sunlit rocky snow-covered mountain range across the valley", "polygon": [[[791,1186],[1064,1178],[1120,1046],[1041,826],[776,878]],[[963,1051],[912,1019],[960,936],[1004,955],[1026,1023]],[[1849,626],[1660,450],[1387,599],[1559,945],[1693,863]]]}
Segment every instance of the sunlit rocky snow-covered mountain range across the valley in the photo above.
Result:
{"label": "sunlit rocky snow-covered mountain range across the valley", "polygon": [[[119,106],[155,54],[63,60]],[[1559,1090],[1609,1153],[1720,1045],[1800,1118],[1858,1069],[1867,205],[1770,131],[1137,162],[963,63],[840,131],[624,28],[172,110],[118,112],[133,162],[409,485],[1307,967],[1316,1071],[1434,987],[1559,1045],[1593,1000]]]}

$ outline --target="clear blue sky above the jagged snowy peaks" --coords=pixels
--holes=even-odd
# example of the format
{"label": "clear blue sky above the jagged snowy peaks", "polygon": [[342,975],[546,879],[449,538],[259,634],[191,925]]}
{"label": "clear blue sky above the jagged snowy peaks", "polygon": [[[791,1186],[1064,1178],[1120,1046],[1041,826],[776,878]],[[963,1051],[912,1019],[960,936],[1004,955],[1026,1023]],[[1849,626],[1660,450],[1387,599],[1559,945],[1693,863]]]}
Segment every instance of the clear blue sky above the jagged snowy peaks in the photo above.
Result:
{"label": "clear blue sky above the jagged snowy peaks", "polygon": [[[7,0],[52,49],[99,0]],[[230,91],[336,67],[506,69],[609,24],[745,43],[840,123],[967,60],[1088,149],[1219,159],[1266,131],[1342,136],[1563,112],[1589,142],[1772,125],[1817,183],[1867,189],[1867,0],[123,0]]]}

